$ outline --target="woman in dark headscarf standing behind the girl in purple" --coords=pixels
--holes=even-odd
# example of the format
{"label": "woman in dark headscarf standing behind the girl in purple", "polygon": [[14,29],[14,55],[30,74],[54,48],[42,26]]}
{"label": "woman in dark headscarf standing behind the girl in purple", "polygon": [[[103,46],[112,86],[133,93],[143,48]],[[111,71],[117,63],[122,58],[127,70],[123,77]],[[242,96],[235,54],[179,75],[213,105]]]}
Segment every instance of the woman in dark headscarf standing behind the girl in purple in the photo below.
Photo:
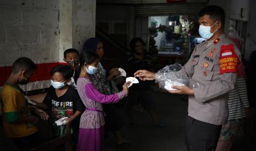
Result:
{"label": "woman in dark headscarf standing behind the girl in purple", "polygon": [[[84,43],[83,51],[94,51],[101,58],[104,55],[103,43],[99,38],[89,38]],[[113,68],[108,71],[104,63],[100,61],[96,74],[91,75],[92,82],[96,88],[105,95],[111,94],[110,82],[111,80],[120,75],[118,68]],[[113,131],[117,139],[117,147],[123,148],[129,145],[129,142],[124,140],[121,135],[123,121],[117,111],[115,104],[104,104],[104,111],[106,113],[106,130]]]}

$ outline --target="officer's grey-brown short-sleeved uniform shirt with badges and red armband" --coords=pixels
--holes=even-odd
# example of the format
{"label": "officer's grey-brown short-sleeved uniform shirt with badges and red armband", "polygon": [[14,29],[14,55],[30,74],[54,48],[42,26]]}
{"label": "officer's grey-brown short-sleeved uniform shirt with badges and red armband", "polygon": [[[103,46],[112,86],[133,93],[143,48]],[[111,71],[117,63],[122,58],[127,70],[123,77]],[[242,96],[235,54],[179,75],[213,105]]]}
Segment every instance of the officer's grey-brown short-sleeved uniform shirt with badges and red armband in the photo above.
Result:
{"label": "officer's grey-brown short-sleeved uniform shirt with badges and red armband", "polygon": [[227,71],[234,67],[238,69],[238,65],[229,66],[228,63],[234,62],[225,64],[230,59],[223,61],[221,58],[235,55],[237,58],[234,60],[238,64],[241,54],[235,45],[232,46],[232,51],[226,49],[233,43],[225,34],[213,43],[208,43],[205,41],[198,44],[181,70],[184,78],[192,77],[190,88],[198,83],[201,85],[193,88],[194,95],[189,95],[188,115],[206,123],[223,125],[228,118],[228,92],[235,88],[237,79],[237,73]]}

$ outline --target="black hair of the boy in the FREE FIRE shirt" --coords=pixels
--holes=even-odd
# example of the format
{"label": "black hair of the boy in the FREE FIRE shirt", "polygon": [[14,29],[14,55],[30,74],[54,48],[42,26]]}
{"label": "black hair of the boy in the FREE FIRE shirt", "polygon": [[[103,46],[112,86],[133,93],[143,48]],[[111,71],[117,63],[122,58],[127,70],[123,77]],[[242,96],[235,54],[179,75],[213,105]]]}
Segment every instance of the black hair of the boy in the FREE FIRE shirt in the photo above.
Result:
{"label": "black hair of the boy in the FREE FIRE shirt", "polygon": [[72,77],[74,74],[73,69],[68,65],[58,65],[52,68],[51,77],[55,72],[62,73],[64,80],[67,80]]}

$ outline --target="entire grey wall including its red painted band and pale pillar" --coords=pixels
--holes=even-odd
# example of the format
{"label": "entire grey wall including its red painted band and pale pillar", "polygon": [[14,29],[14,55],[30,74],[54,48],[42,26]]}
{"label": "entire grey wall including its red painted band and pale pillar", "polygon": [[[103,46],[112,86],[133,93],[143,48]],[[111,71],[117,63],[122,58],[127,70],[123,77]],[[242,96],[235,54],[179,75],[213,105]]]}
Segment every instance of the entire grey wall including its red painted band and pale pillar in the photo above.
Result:
{"label": "entire grey wall including its red painted band and pale pillar", "polygon": [[95,36],[95,11],[95,0],[0,0],[0,87],[12,63],[24,56],[37,71],[23,89],[48,88],[64,50],[81,50]]}

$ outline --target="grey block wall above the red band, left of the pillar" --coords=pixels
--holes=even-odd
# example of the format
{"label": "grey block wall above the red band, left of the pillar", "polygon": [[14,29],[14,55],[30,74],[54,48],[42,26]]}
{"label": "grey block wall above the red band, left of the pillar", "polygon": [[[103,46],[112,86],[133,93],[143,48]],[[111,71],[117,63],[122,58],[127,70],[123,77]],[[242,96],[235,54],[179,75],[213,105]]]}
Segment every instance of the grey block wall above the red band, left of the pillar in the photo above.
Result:
{"label": "grey block wall above the red band, left of the pillar", "polygon": [[58,61],[58,1],[0,1],[0,66],[18,57]]}

